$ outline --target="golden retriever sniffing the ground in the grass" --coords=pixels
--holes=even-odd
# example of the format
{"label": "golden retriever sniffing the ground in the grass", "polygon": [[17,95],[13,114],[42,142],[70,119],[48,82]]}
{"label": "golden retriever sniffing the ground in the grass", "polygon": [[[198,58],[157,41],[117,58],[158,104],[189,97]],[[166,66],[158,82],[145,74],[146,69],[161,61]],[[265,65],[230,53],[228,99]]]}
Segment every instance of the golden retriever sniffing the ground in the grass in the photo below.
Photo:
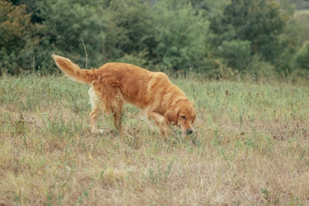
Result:
{"label": "golden retriever sniffing the ground in the grass", "polygon": [[91,86],[91,132],[103,133],[97,122],[105,112],[112,113],[115,128],[124,135],[122,109],[124,104],[132,104],[142,116],[155,121],[164,137],[170,135],[171,125],[179,126],[183,137],[194,133],[194,106],[165,73],[121,62],[106,63],[99,69],[80,69],[68,58],[55,54],[52,58],[67,78]]}

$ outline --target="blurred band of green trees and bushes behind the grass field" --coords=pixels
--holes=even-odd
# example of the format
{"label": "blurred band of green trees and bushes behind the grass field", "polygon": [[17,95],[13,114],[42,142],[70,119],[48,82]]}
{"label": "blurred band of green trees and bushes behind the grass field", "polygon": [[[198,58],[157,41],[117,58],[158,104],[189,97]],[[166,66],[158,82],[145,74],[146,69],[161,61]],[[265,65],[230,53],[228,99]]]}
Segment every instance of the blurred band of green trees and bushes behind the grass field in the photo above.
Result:
{"label": "blurred band of green trees and bushes behind the grass field", "polygon": [[[309,0],[0,0],[1,73],[128,62],[152,71],[309,76]],[[1,75],[0,73],[0,75]]]}

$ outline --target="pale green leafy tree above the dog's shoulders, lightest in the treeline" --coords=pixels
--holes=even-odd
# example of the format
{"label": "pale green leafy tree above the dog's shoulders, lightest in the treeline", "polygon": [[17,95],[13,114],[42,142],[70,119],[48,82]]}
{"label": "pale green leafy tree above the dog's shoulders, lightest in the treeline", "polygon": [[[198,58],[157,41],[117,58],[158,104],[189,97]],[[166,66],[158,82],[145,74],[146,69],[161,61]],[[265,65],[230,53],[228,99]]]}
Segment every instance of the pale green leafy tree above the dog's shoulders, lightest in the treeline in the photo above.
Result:
{"label": "pale green leafy tree above the dog's shoulders, lightest in the treeline", "polygon": [[148,47],[149,63],[174,71],[201,66],[208,33],[203,13],[188,1],[157,1],[152,16],[155,47]]}

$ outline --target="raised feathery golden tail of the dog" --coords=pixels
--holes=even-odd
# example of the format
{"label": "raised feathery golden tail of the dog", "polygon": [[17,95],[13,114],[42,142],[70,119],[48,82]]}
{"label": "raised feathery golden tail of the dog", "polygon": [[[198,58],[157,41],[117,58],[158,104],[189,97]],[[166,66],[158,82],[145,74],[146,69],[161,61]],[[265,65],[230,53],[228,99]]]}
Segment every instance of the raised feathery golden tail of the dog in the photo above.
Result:
{"label": "raised feathery golden tail of the dog", "polygon": [[93,80],[98,79],[98,70],[97,69],[80,69],[78,65],[74,64],[68,58],[64,58],[62,56],[58,56],[52,54],[52,58],[54,58],[56,65],[65,73],[65,76],[70,78],[73,81],[91,84]]}

